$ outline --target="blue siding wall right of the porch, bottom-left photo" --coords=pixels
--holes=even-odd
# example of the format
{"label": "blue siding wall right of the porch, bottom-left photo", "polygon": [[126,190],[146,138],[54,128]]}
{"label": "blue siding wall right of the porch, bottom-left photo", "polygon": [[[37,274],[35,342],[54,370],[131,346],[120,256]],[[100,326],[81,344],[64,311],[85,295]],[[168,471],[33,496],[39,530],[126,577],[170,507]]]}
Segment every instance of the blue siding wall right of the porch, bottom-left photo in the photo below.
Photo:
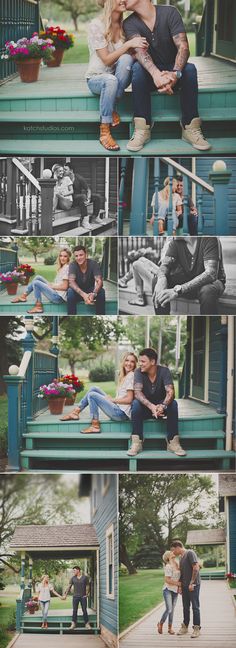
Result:
{"label": "blue siding wall right of the porch, bottom-left photo", "polygon": [[[102,475],[92,476],[91,520],[94,524],[100,543],[100,623],[113,634],[118,632],[118,529],[117,529],[117,477],[108,475],[109,488],[102,494]],[[96,512],[93,513],[94,490],[96,489]],[[106,529],[114,525],[114,560],[115,560],[115,598],[106,595]]]}

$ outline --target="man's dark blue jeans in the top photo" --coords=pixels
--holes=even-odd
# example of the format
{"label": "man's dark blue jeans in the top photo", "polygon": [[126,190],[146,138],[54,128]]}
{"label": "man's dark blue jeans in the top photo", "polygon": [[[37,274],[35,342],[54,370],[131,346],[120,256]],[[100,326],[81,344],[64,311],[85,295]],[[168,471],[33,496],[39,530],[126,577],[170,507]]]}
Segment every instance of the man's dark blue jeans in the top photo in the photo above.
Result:
{"label": "man's dark blue jeans in the top photo", "polygon": [[[161,70],[161,68],[159,67]],[[162,68],[163,69],[163,68]],[[173,70],[169,66],[168,70]],[[176,83],[174,91],[180,91],[180,105],[182,111],[182,124],[190,124],[194,117],[198,117],[198,80],[197,70],[193,63],[187,63],[182,71],[182,79]],[[151,92],[158,92],[154,81],[144,67],[136,62],[132,66],[132,90],[134,101],[134,116],[144,117],[147,124],[151,124]]]}

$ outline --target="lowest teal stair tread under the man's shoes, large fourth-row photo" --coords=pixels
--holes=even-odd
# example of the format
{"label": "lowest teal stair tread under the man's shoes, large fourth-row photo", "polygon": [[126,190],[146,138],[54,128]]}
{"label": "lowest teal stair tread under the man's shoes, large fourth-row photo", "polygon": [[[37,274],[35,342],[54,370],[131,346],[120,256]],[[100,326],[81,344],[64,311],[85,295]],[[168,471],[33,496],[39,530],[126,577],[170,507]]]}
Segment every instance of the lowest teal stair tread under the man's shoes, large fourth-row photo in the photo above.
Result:
{"label": "lowest teal stair tread under the man's shoes, large fourth-row photo", "polygon": [[[130,459],[126,450],[22,450],[22,457],[41,459]],[[184,460],[189,459],[220,459],[235,457],[233,450],[188,450]],[[143,450],[137,455],[138,459],[180,459],[168,450]],[[183,459],[183,457],[182,457]]]}

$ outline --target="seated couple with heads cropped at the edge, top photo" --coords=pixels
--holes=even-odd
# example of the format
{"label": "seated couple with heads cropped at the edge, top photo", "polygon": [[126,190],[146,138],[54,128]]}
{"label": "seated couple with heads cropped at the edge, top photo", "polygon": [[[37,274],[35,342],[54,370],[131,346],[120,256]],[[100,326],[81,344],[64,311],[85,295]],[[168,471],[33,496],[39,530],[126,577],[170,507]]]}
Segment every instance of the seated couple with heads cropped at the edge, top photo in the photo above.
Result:
{"label": "seated couple with heads cropped at the edge, top photo", "polygon": [[[98,0],[103,15],[89,26],[88,87],[100,95],[100,142],[108,150],[119,145],[111,128],[120,123],[118,102],[132,84],[134,133],[129,151],[140,151],[151,139],[151,93],[180,93],[182,138],[195,149],[211,145],[201,130],[197,70],[188,63],[189,44],[179,11],[154,6],[151,0]],[[123,14],[132,12],[123,21]],[[158,152],[158,151],[157,151]]]}

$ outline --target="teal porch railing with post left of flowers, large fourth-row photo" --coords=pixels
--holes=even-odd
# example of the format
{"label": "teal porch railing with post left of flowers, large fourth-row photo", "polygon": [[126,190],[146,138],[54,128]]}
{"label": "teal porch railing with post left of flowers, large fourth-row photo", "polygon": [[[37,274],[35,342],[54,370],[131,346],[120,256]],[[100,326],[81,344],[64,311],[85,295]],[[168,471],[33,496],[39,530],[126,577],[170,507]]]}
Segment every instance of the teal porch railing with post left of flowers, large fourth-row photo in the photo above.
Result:
{"label": "teal porch railing with post left of flowers, large fourth-row photo", "polygon": [[32,322],[22,342],[23,357],[17,374],[15,367],[4,376],[7,384],[8,399],[8,466],[9,470],[20,470],[20,451],[22,435],[26,432],[27,421],[34,419],[43,409],[46,401],[38,398],[39,387],[58,376],[58,355],[35,349]]}

